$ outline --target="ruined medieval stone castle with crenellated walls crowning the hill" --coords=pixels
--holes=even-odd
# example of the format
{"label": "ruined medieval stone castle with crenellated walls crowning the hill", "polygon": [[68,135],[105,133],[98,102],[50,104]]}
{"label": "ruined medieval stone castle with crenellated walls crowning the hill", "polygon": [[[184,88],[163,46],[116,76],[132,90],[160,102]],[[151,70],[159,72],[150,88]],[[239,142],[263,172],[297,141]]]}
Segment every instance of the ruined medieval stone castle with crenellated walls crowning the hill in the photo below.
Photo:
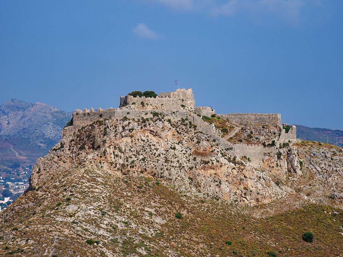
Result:
{"label": "ruined medieval stone castle with crenellated walls crowning the hill", "polygon": [[[133,97],[127,95],[120,97],[119,108],[110,108],[97,111],[91,109],[75,110],[72,117],[72,125],[65,127],[62,137],[71,135],[81,127],[93,123],[97,120],[137,119],[141,117],[150,118],[153,112],[163,113],[171,120],[180,120],[181,118],[189,119],[199,131],[215,138],[224,149],[236,156],[247,156],[251,159],[251,164],[258,167],[265,154],[270,152],[270,148],[262,145],[232,144],[221,138],[220,131],[216,130],[213,124],[204,122],[201,117],[211,117],[215,110],[211,107],[195,107],[194,95],[192,89],[177,89],[174,92],[159,93],[156,98],[150,97]],[[237,125],[269,125],[279,131],[278,138],[275,140],[276,145],[294,141],[296,139],[296,126],[281,123],[281,114],[263,114],[263,113],[228,113],[216,114],[223,120],[228,120],[231,124]],[[285,127],[288,128],[286,133]]]}

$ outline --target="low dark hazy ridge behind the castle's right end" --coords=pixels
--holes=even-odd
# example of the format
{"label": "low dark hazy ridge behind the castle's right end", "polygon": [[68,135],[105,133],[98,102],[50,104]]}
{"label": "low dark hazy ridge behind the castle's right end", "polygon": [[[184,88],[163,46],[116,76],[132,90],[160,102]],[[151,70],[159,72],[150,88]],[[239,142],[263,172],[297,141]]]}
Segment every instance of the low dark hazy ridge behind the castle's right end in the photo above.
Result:
{"label": "low dark hazy ridge behind the castle's right end", "polygon": [[306,127],[303,125],[297,126],[297,138],[305,139],[309,141],[324,142],[329,144],[336,145],[336,136],[338,146],[343,147],[343,131],[342,130],[330,130],[330,129],[321,129],[319,127]]}

